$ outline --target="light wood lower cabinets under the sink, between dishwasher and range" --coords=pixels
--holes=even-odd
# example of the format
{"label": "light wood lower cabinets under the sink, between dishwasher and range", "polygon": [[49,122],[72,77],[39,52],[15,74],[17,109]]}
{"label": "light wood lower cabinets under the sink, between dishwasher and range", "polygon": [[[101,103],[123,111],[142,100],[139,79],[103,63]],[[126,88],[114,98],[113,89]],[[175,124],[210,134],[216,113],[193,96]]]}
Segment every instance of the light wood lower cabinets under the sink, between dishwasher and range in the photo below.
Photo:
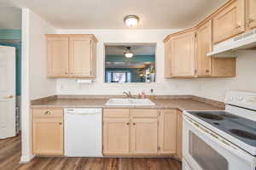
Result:
{"label": "light wood lower cabinets under the sink, between dishwasher and range", "polygon": [[176,110],[108,109],[103,117],[104,156],[176,155]]}

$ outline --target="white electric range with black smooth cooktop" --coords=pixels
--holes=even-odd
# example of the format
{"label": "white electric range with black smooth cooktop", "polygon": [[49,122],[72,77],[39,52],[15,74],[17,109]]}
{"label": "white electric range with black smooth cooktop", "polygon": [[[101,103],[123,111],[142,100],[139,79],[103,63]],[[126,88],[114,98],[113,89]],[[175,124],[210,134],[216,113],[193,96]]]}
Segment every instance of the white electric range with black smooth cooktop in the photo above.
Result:
{"label": "white electric range with black smooth cooktop", "polygon": [[227,92],[225,111],[183,112],[183,170],[256,170],[256,93]]}

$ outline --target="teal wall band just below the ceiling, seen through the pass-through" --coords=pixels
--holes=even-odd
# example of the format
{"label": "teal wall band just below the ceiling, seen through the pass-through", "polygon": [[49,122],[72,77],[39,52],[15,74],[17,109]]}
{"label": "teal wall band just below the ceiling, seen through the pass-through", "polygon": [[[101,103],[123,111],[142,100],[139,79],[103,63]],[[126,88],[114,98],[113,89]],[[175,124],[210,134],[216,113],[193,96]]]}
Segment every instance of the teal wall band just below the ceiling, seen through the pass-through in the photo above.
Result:
{"label": "teal wall band just below the ceiling, seen through the pass-through", "polygon": [[132,58],[126,58],[125,55],[106,55],[106,62],[154,62],[154,55],[134,55]]}

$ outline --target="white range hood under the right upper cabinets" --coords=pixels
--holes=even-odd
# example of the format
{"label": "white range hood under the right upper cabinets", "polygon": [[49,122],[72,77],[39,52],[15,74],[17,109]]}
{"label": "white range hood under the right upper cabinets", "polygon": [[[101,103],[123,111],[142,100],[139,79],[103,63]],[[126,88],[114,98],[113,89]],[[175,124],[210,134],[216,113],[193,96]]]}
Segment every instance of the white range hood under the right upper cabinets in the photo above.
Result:
{"label": "white range hood under the right upper cabinets", "polygon": [[256,30],[246,32],[225,42],[220,42],[213,47],[207,56],[236,57],[236,51],[256,49]]}

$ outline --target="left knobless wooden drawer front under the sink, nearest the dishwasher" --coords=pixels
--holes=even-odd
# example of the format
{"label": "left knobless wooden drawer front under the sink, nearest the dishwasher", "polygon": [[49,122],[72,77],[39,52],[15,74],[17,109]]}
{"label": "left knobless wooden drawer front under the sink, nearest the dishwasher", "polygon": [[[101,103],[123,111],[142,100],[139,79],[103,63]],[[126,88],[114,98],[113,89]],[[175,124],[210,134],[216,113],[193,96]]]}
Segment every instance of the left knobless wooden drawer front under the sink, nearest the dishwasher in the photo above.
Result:
{"label": "left knobless wooden drawer front under the sink, nearest the dishwasher", "polygon": [[130,109],[104,109],[104,117],[130,117]]}

